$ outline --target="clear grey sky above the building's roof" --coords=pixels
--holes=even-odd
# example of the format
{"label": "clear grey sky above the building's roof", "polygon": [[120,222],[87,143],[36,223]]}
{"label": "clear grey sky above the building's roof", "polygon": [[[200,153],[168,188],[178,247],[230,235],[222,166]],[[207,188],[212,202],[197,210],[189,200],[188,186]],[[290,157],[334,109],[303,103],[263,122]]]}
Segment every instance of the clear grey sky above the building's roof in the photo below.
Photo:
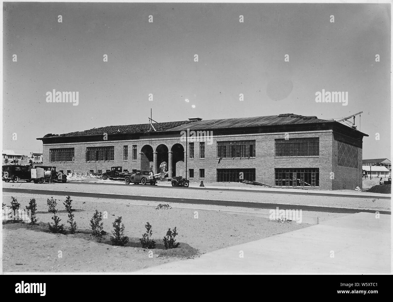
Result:
{"label": "clear grey sky above the building's roof", "polygon": [[[4,3],[3,149],[148,123],[151,108],[157,122],[363,111],[363,158],[389,158],[390,18],[389,4]],[[78,105],[46,102],[53,89]],[[316,102],[322,89],[347,106]]]}

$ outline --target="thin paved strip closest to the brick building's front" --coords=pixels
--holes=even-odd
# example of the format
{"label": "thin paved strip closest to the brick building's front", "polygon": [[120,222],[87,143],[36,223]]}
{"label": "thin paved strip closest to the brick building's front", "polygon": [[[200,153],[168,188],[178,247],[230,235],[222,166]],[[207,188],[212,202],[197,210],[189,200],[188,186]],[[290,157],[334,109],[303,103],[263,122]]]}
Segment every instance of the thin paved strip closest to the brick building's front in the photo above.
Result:
{"label": "thin paved strip closest to the brick building's front", "polygon": [[[97,186],[125,186],[124,182],[119,183],[102,183],[102,182],[79,182],[79,181],[70,181],[68,182],[70,184],[89,184],[89,185],[97,185]],[[136,185],[138,186],[138,185]],[[183,187],[172,187],[172,186],[149,186],[149,188],[154,188],[154,189],[159,189],[159,188],[165,188],[165,189],[179,189],[179,190],[184,190]],[[187,190],[209,190],[209,191],[222,191],[222,190],[230,190],[231,192],[251,192],[251,193],[269,193],[269,194],[289,194],[289,195],[308,195],[308,196],[330,196],[330,197],[351,197],[351,198],[371,198],[371,199],[391,199],[390,196],[380,196],[380,195],[354,195],[354,194],[335,194],[329,192],[321,192],[321,191],[311,191],[311,190],[302,190],[299,189],[298,192],[294,191],[271,191],[271,190],[263,190],[263,189],[258,189],[258,190],[253,190],[253,189],[228,189],[226,187],[222,188],[212,188],[212,187],[188,187]]]}

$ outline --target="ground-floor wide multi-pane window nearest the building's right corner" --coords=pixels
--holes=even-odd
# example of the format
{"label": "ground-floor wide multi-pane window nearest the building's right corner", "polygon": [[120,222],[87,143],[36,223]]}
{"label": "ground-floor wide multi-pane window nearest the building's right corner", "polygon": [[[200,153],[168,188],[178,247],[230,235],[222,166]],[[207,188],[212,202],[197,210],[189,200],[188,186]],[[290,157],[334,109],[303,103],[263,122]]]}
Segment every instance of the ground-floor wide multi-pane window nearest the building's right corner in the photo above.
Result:
{"label": "ground-floor wide multi-pane window nearest the building's right corner", "polygon": [[319,187],[319,168],[276,168],[275,185]]}

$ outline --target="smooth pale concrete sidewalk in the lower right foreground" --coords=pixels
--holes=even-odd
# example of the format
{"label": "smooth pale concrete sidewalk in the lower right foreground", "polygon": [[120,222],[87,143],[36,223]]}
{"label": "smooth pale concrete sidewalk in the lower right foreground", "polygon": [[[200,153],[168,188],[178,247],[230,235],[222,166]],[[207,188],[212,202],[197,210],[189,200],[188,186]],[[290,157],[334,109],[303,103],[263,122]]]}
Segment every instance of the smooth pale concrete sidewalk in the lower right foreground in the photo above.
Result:
{"label": "smooth pale concrete sidewalk in the lower right foreground", "polygon": [[390,217],[351,214],[136,273],[391,273]]}

